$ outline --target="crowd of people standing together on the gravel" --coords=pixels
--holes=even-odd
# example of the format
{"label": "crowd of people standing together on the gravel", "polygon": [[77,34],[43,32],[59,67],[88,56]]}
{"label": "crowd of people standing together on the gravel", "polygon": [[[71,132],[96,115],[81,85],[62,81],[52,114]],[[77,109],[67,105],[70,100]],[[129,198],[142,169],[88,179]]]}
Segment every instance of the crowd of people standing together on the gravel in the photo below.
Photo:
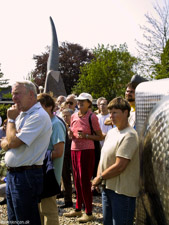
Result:
{"label": "crowd of people standing together on the gravel", "polygon": [[8,224],[59,224],[56,196],[63,188],[60,207],[73,208],[72,180],[76,204],[63,216],[94,220],[93,195],[101,189],[104,225],[133,224],[139,192],[135,88],[127,85],[125,99],[98,98],[94,111],[89,93],[53,98],[37,94],[30,81],[12,86],[14,105],[0,143],[6,168],[0,196],[7,202]]}

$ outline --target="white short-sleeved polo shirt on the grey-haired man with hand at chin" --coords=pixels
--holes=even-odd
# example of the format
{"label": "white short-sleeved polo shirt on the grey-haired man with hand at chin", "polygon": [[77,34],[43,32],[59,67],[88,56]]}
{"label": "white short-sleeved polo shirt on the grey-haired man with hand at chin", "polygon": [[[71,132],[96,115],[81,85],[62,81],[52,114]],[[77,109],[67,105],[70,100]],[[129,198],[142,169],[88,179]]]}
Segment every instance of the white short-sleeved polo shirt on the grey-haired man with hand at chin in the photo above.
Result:
{"label": "white short-sleeved polo shirt on the grey-haired man with hand at chin", "polygon": [[42,165],[52,133],[48,113],[38,102],[27,112],[21,112],[15,124],[16,136],[24,144],[9,149],[5,154],[5,163],[9,167]]}

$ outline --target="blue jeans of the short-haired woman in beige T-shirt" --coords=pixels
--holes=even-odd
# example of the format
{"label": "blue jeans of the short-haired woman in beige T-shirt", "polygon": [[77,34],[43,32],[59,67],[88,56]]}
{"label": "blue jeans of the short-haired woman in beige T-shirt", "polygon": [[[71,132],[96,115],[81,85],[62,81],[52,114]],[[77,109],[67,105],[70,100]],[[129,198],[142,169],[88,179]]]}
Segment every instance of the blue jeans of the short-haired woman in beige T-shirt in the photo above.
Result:
{"label": "blue jeans of the short-haired woman in beige T-shirt", "polygon": [[134,197],[104,189],[102,192],[104,225],[133,225],[135,202]]}

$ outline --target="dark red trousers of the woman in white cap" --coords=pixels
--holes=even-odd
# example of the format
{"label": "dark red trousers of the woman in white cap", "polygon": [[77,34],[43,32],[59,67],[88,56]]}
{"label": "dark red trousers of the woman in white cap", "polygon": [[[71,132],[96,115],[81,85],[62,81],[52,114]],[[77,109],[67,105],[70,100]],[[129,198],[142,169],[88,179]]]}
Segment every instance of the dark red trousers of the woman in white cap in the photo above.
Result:
{"label": "dark red trousers of the woman in white cap", "polygon": [[81,210],[82,203],[86,213],[92,212],[91,178],[94,171],[94,149],[71,151],[73,176],[76,189],[76,209]]}

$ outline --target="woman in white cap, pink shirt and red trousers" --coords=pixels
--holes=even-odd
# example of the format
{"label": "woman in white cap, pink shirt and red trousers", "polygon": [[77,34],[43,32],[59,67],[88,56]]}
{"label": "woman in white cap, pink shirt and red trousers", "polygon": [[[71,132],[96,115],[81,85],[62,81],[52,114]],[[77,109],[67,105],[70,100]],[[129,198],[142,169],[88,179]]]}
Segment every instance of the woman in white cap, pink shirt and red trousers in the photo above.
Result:
{"label": "woman in white cap, pink shirt and red trousers", "polygon": [[[91,178],[94,170],[95,152],[93,140],[103,140],[97,116],[89,109],[92,105],[92,96],[81,93],[77,98],[79,111],[71,117],[72,145],[71,157],[73,166],[74,183],[76,188],[76,209],[64,213],[67,217],[80,216],[79,222],[88,222],[92,215]],[[91,134],[89,116],[95,135]],[[82,203],[85,205],[85,214],[82,215]]]}

